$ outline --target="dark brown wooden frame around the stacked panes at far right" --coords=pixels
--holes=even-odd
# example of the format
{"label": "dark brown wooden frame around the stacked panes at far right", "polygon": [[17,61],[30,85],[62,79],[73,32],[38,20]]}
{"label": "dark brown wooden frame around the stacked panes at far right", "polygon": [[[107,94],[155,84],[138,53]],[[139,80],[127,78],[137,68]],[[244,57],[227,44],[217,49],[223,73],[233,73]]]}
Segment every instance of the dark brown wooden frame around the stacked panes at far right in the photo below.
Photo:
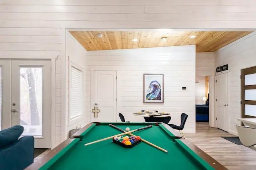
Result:
{"label": "dark brown wooden frame around the stacked panes at far right", "polygon": [[256,118],[255,116],[245,115],[245,105],[256,105],[256,101],[254,100],[245,100],[245,90],[252,90],[256,89],[255,85],[245,85],[245,76],[248,74],[255,74],[256,73],[256,66],[245,68],[241,70],[241,116],[242,118]]}

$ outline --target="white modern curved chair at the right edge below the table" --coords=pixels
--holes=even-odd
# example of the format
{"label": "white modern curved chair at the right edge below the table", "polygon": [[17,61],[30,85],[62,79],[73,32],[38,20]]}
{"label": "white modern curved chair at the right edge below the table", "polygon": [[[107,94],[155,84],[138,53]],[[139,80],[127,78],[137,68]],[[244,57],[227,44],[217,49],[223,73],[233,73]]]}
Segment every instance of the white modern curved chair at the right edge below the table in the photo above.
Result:
{"label": "white modern curved chair at the right edge below the table", "polygon": [[236,125],[236,130],[244,146],[250,147],[256,145],[256,128]]}

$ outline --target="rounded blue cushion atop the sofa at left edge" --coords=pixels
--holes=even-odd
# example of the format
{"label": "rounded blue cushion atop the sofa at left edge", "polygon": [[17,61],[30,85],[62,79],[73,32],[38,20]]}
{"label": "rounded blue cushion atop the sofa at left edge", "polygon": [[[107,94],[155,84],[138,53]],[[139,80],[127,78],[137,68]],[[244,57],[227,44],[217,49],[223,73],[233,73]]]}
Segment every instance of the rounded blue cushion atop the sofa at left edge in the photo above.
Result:
{"label": "rounded blue cushion atop the sofa at left edge", "polygon": [[20,125],[15,125],[0,131],[0,148],[6,147],[10,143],[17,141],[23,131],[24,127]]}

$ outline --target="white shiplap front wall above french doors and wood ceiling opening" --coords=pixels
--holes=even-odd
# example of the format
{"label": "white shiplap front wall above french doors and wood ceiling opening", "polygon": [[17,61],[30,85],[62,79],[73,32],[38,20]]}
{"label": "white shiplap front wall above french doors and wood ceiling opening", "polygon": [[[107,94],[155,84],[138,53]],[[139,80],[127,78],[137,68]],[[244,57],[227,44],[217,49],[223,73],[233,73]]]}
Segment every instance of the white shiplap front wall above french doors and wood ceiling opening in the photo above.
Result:
{"label": "white shiplap front wall above french doors and wood ceiling opening", "polygon": [[66,114],[65,28],[255,28],[255,11],[255,0],[1,0],[0,58],[59,56],[57,125]]}

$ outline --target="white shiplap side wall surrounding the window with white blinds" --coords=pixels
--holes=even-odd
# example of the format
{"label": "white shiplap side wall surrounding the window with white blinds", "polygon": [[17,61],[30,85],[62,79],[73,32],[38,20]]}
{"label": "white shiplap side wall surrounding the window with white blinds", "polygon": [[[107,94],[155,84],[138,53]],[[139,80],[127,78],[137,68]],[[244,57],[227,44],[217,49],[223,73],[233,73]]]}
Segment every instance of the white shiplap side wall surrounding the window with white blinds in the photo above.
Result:
{"label": "white shiplap side wall surrounding the window with white blinds", "polygon": [[[71,64],[74,63],[77,66],[79,66],[80,68],[83,68],[83,86],[84,86],[84,91],[82,92],[84,94],[84,103],[86,102],[86,50],[84,49],[84,47],[82,47],[82,45],[68,32],[66,31],[66,67],[67,67],[67,74],[66,74],[66,84],[70,83],[70,65],[68,63]],[[68,121],[68,116],[69,116],[69,86],[66,86],[66,116],[65,116],[65,127],[63,127],[63,129],[65,129],[63,131],[63,133],[65,134],[65,137],[68,137],[68,133],[71,129],[76,129],[77,125],[81,125],[81,127],[84,127],[86,125],[86,121],[85,121],[85,110],[86,107],[84,105],[83,107],[83,115],[76,121],[73,121],[72,123],[70,123]]]}

